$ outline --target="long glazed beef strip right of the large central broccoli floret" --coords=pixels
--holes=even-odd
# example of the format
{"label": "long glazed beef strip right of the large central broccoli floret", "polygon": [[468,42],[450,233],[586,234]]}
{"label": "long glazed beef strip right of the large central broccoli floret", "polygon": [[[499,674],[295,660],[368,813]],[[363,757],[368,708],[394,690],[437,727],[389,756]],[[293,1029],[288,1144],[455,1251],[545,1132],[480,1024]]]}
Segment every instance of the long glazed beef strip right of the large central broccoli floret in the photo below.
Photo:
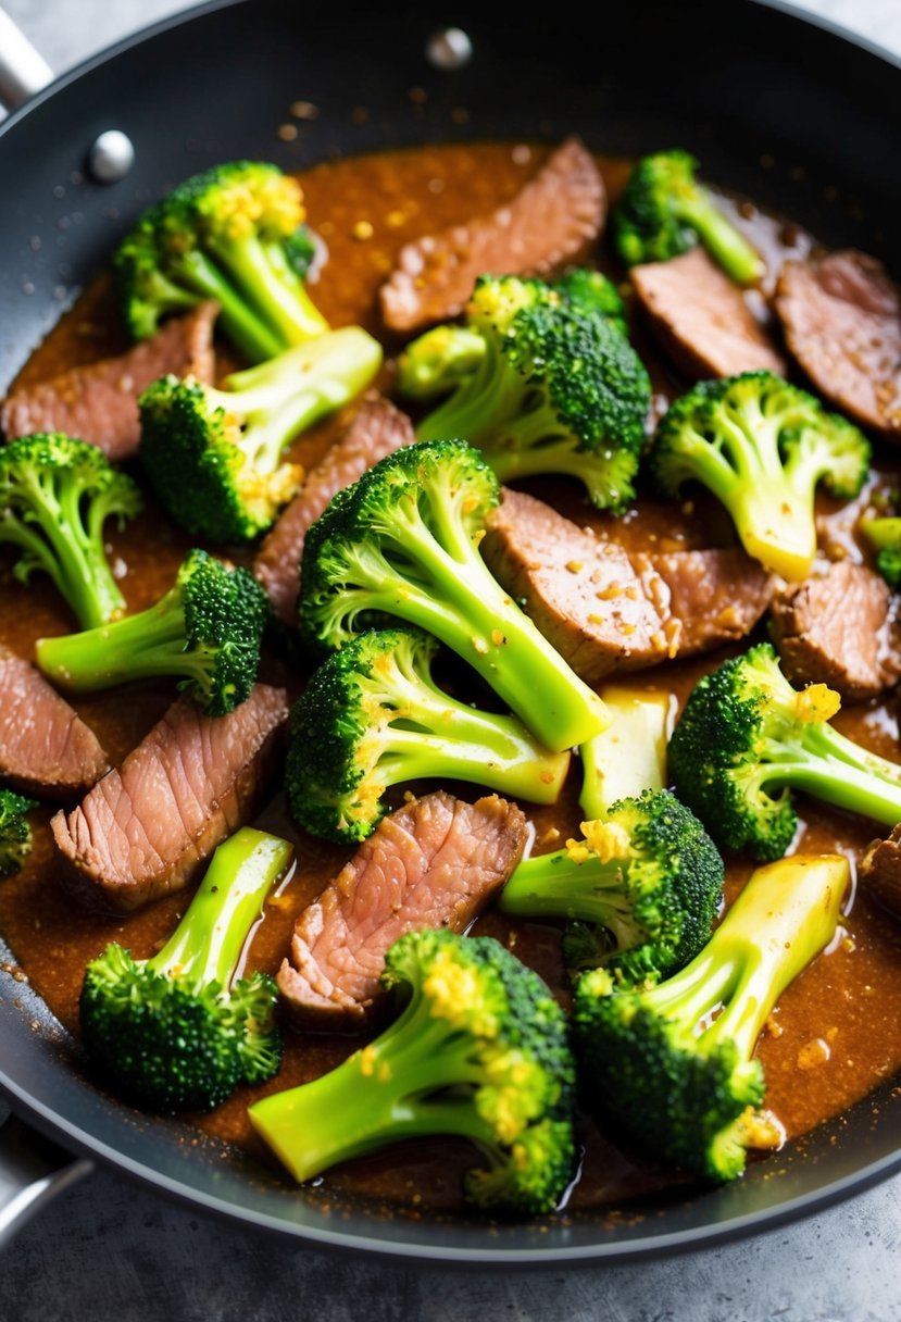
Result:
{"label": "long glazed beef strip right of the large central broccoli floret", "polygon": [[739,547],[628,555],[522,492],[505,490],[482,553],[589,683],[741,639],[773,592]]}

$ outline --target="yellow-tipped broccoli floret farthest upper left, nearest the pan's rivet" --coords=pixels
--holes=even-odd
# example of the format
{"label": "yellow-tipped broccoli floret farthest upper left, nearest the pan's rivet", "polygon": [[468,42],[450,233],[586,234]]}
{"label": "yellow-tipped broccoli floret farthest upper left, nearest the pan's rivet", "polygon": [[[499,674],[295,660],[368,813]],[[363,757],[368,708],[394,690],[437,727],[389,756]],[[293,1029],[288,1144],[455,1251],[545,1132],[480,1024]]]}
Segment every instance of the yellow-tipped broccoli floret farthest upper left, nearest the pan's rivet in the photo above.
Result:
{"label": "yellow-tipped broccoli floret farthest upper left, nearest the pan's rivet", "polygon": [[231,161],[194,175],[147,210],[114,255],[126,324],[136,340],[202,299],[251,362],[328,330],[304,286],[312,239],[303,192],[276,165]]}

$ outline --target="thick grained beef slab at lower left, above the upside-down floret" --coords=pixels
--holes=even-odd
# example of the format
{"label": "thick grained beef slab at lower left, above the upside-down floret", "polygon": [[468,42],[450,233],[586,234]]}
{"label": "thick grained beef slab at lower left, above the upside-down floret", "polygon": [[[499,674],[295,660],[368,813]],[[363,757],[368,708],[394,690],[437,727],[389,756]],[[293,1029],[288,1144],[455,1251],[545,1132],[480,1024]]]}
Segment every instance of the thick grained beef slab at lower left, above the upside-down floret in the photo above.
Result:
{"label": "thick grained beef slab at lower left, above the upside-down floret", "polygon": [[284,689],[263,683],[227,717],[205,717],[188,698],[169,707],[120,771],[53,818],[73,892],[129,912],[185,886],[251,817],[287,718]]}

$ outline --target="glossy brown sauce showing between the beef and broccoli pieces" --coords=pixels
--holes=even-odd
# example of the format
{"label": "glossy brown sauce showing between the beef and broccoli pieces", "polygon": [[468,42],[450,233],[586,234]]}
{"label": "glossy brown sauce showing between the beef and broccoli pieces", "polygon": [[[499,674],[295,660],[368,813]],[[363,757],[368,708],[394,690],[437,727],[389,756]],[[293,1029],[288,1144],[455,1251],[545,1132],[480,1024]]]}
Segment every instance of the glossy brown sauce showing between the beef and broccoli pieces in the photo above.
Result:
{"label": "glossy brown sauce showing between the beef and broccoli pieces", "polygon": [[[484,144],[429,147],[320,165],[303,176],[309,219],[329,246],[313,296],[333,325],[359,323],[382,334],[377,315],[377,290],[392,266],[399,247],[419,234],[466,219],[511,197],[536,169],[544,149]],[[628,165],[601,160],[612,197],[622,185]],[[783,230],[772,217],[744,208],[742,223],[772,262],[798,255],[806,237]],[[362,222],[362,223],[361,223]],[[786,234],[789,243],[779,238]],[[655,356],[641,328],[637,348],[649,365],[658,405],[676,393],[680,383]],[[25,366],[20,381],[40,381],[78,362],[89,362],[126,346],[108,279],[100,276],[52,332]],[[386,341],[386,366],[380,385],[390,390],[391,354]],[[231,366],[226,353],[222,370]],[[295,457],[314,463],[338,428],[341,419],[317,428],[295,447]],[[622,520],[592,510],[577,490],[565,483],[542,483],[543,498],[581,526],[601,537],[617,537],[629,547],[675,550],[727,543],[733,534],[724,513],[711,504],[699,509],[642,501]],[[823,538],[832,546],[847,545],[853,520],[848,512],[823,501]],[[131,609],[141,609],[170,584],[189,542],[172,529],[148,498],[144,514],[123,535],[112,534],[112,561],[122,572],[122,586]],[[0,641],[30,658],[36,639],[70,631],[74,621],[46,582],[36,578],[28,590],[11,574],[12,557],[0,557]],[[709,654],[696,664],[680,664],[647,672],[630,682],[635,687],[665,687],[680,699],[704,669],[723,660]],[[303,674],[275,656],[266,660],[264,678],[288,683],[299,691]],[[166,685],[141,685],[77,702],[114,761],[143,738],[172,701]],[[886,706],[871,703],[848,709],[836,722],[851,738],[888,758],[898,756],[894,715]],[[536,847],[550,849],[579,826],[579,768],[573,767],[564,801],[550,809],[526,808],[535,824]],[[462,795],[472,789],[458,787]],[[873,824],[799,804],[803,829],[798,847],[810,853],[842,851],[852,862],[879,833]],[[189,895],[170,896],[127,919],[89,916],[73,907],[54,878],[54,859],[46,822],[52,809],[33,814],[36,843],[32,858],[18,875],[0,883],[0,933],[15,952],[17,965],[52,1011],[74,1034],[78,1031],[78,994],[85,965],[108,941],[118,940],[137,957],[147,957],[166,940]],[[258,818],[258,825],[296,841],[297,865],[291,880],[271,899],[264,921],[256,929],[248,962],[275,970],[284,957],[300,908],[334,875],[347,851],[300,837],[281,797],[276,796]],[[729,865],[729,895],[735,895],[752,867]],[[532,964],[565,999],[565,980],[559,954],[559,931],[554,925],[524,924],[497,911],[485,914],[476,931],[497,936]],[[240,1089],[210,1116],[196,1118],[207,1134],[258,1151],[246,1117],[256,1096],[312,1079],[336,1066],[357,1040],[329,1035],[288,1034],[281,1072],[263,1088]],[[760,1055],[768,1079],[768,1107],[789,1136],[799,1136],[835,1116],[901,1067],[901,924],[857,896],[844,919],[844,929],[830,953],[820,956],[786,992],[765,1032]],[[193,1118],[193,1117],[192,1117]],[[572,1208],[616,1207],[630,1196],[672,1183],[662,1174],[608,1142],[588,1121],[581,1122],[585,1159],[572,1194]],[[263,1155],[260,1153],[260,1155]],[[371,1194],[411,1210],[429,1206],[452,1210],[460,1206],[460,1175],[472,1163],[464,1144],[408,1144],[366,1161],[347,1163],[332,1173],[333,1186]]]}

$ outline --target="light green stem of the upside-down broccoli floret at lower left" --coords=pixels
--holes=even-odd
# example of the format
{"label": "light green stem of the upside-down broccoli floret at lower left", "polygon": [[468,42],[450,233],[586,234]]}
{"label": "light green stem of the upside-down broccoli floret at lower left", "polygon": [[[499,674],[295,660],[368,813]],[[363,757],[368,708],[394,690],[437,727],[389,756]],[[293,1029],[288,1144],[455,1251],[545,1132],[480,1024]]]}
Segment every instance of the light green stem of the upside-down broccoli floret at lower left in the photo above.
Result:
{"label": "light green stem of the upside-down broccoli floret at lower left", "polygon": [[198,988],[227,988],[254,919],[262,915],[266,896],[291,854],[288,841],[250,826],[219,845],[188,912],[147,968],[192,978]]}

